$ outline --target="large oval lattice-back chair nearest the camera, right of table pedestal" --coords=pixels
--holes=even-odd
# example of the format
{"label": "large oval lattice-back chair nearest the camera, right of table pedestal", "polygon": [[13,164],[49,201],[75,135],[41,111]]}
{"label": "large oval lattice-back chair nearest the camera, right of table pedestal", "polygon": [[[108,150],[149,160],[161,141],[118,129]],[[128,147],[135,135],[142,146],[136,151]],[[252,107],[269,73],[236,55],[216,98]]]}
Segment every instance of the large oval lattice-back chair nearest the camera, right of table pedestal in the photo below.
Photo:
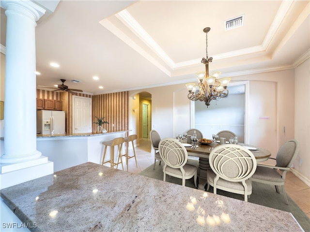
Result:
{"label": "large oval lattice-back chair nearest the camera, right of table pedestal", "polygon": [[207,170],[207,190],[217,189],[244,195],[244,201],[252,193],[249,180],[256,170],[255,156],[246,148],[236,144],[216,146],[209,155],[211,169]]}

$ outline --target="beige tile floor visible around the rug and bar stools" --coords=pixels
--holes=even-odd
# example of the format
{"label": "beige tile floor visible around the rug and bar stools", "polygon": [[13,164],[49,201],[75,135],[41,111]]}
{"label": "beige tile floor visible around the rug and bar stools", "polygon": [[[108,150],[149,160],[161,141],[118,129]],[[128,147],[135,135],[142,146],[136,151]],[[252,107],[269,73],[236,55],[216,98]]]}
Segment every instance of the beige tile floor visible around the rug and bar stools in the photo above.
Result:
{"label": "beige tile floor visible around the rug and bar stools", "polygon": [[[142,170],[154,164],[154,150],[149,139],[141,139],[139,146],[135,148],[138,167],[136,167],[135,159],[129,160],[129,172],[139,174]],[[133,155],[133,150],[129,150],[130,156]],[[123,158],[125,159],[125,158]],[[125,160],[123,160],[125,165]],[[109,164],[105,164],[109,166]],[[122,170],[119,165],[118,169]],[[126,170],[126,167],[124,167]],[[286,174],[285,189],[287,194],[294,202],[310,217],[310,187],[296,177],[292,172]]]}

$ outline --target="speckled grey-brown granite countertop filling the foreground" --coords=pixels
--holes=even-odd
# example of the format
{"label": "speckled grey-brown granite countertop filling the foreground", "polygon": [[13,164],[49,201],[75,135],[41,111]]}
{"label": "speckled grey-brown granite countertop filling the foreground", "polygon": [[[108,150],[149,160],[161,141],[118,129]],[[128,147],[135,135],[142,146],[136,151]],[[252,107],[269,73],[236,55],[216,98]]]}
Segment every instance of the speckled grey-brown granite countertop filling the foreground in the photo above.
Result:
{"label": "speckled grey-brown granite countertop filling the foreground", "polygon": [[1,197],[38,225],[33,231],[302,231],[288,212],[91,162],[2,189]]}

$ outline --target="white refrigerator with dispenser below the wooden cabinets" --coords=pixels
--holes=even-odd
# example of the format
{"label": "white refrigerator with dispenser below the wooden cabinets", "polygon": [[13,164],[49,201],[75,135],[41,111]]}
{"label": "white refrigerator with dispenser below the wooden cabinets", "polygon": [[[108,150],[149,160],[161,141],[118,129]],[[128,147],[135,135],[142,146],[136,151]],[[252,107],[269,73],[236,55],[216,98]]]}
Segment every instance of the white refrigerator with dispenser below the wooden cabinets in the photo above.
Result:
{"label": "white refrigerator with dispenser below the wooden cabinets", "polygon": [[37,111],[37,134],[64,134],[65,112],[58,110]]}

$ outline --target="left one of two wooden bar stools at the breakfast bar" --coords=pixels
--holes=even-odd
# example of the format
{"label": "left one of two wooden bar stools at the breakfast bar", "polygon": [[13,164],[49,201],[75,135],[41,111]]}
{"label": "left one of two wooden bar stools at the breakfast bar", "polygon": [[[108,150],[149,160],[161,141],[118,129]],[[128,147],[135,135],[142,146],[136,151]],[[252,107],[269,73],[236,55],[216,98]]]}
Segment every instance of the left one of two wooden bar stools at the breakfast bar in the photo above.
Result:
{"label": "left one of two wooden bar stools at the breakfast bar", "polygon": [[[121,159],[121,161],[119,160],[120,157],[122,157],[122,145],[123,145],[124,142],[125,142],[125,140],[122,137],[102,142],[102,144],[105,145],[105,150],[104,150],[104,153],[103,153],[103,158],[102,158],[101,165],[103,165],[104,163],[110,162],[111,163],[111,168],[114,168],[115,165],[117,165],[116,168],[118,168],[118,164],[122,163],[122,168],[123,168],[123,171],[124,171],[123,160],[122,159]],[[117,159],[117,163],[114,163],[114,146],[116,146],[116,145],[118,146],[118,159]],[[105,161],[106,151],[107,151],[107,147],[108,146],[111,147],[110,160]]]}

